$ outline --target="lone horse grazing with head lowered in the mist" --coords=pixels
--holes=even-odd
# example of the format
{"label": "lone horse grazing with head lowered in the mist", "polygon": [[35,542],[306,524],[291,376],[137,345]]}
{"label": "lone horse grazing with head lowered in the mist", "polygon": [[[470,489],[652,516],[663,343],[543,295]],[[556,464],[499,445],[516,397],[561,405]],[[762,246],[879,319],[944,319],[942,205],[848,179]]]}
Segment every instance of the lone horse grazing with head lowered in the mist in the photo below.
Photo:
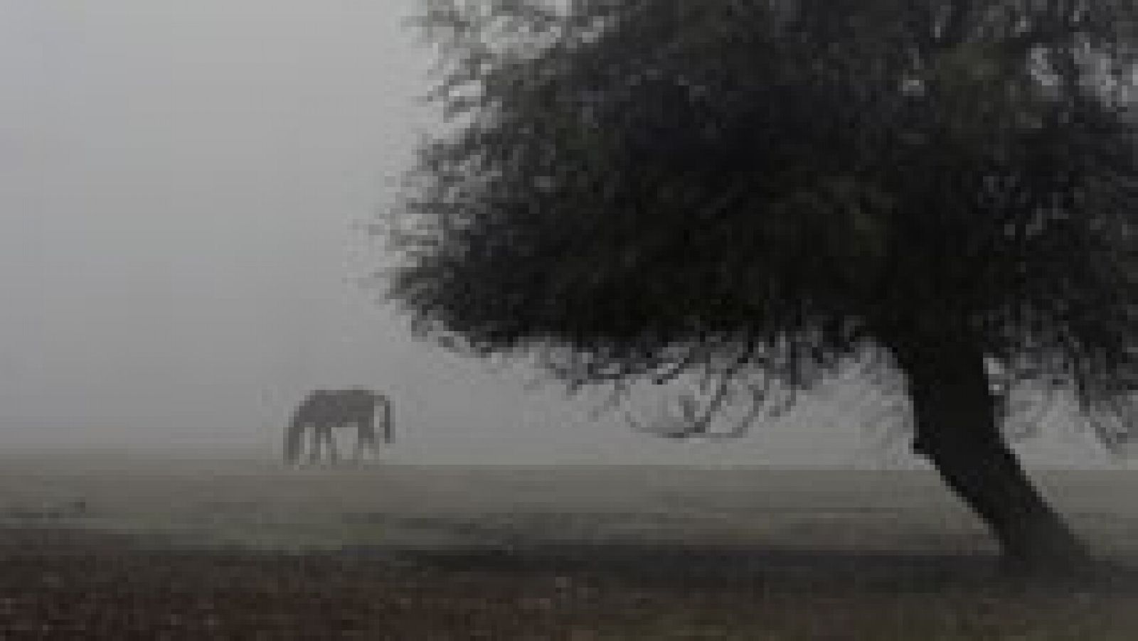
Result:
{"label": "lone horse grazing with head lowered in the mist", "polygon": [[310,461],[320,459],[321,443],[327,446],[329,458],[337,460],[335,427],[356,427],[355,458],[358,460],[366,448],[377,453],[376,410],[380,409],[384,442],[391,442],[391,401],[385,394],[364,389],[315,390],[292,413],[284,433],[284,460],[296,463],[300,458],[304,433],[312,430]]}

